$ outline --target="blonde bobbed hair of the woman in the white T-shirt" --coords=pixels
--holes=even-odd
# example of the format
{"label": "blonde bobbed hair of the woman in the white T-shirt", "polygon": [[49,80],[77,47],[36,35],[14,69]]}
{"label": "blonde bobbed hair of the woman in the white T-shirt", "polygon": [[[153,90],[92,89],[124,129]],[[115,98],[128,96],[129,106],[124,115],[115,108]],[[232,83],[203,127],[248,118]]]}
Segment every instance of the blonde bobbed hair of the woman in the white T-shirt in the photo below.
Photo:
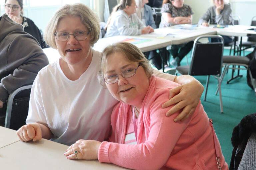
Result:
{"label": "blonde bobbed hair of the woman in the white T-shirt", "polygon": [[58,23],[62,18],[70,16],[80,17],[81,23],[88,29],[91,46],[93,46],[100,37],[100,20],[89,7],[82,3],[67,4],[53,15],[45,30],[45,42],[50,47],[57,48],[54,33],[56,32]]}

